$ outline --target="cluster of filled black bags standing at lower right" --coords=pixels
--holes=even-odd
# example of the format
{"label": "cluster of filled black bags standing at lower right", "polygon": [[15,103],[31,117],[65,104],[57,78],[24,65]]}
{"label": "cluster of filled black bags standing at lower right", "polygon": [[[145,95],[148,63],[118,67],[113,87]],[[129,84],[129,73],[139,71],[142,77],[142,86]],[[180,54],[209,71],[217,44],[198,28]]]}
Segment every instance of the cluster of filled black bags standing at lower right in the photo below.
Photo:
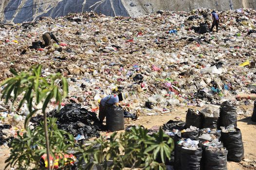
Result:
{"label": "cluster of filled black bags standing at lower right", "polygon": [[[230,131],[220,131],[220,127],[223,129],[223,127],[227,128],[230,125],[234,125],[235,128]],[[184,131],[190,126],[201,130]],[[171,136],[175,143],[174,160],[170,161],[171,165],[174,166],[174,170],[227,170],[227,161],[240,162],[243,159],[242,135],[237,127],[237,112],[232,102],[223,102],[219,106],[219,117],[211,119],[197,110],[188,109],[186,122],[170,120],[164,124],[163,129],[165,131],[172,131],[173,129],[180,131],[175,136]],[[216,129],[215,133],[209,134],[214,135],[215,140],[219,140],[218,145],[210,145],[209,147],[203,145],[208,141],[201,140],[200,135],[207,133],[207,129]],[[197,150],[184,149],[183,145],[179,145],[181,141],[187,138],[200,140]]]}

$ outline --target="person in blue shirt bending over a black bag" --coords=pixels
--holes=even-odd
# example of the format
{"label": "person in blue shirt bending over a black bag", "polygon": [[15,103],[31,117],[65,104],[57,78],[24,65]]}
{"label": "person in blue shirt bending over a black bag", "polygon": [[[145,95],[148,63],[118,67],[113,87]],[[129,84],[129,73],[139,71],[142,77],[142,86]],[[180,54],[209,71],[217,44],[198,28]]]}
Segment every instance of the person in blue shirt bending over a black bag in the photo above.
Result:
{"label": "person in blue shirt bending over a black bag", "polygon": [[109,95],[109,96],[106,96],[105,98],[101,99],[100,107],[99,107],[100,123],[103,123],[103,120],[105,119],[105,117],[107,115],[108,107],[111,107],[114,104],[118,105],[119,102],[125,100],[127,97],[128,97],[127,93],[121,92],[118,95],[116,95],[116,94]]}

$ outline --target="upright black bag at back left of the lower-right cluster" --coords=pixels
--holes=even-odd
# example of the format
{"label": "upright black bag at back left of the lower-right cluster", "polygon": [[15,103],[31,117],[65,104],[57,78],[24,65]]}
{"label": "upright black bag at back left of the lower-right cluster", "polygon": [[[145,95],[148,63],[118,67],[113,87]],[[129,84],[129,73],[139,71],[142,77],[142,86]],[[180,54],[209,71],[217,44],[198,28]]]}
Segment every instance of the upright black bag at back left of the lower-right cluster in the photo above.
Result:
{"label": "upright black bag at back left of the lower-right cluster", "polygon": [[202,114],[196,113],[197,111],[194,109],[188,109],[186,114],[186,127],[195,126],[201,129],[202,126]]}

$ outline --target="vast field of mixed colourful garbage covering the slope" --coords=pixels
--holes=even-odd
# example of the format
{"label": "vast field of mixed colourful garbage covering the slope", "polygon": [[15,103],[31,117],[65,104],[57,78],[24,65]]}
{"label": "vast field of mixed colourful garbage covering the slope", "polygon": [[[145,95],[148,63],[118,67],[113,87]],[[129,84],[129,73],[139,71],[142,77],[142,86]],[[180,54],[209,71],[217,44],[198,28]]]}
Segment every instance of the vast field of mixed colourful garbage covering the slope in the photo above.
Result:
{"label": "vast field of mixed colourful garbage covering the slope", "polygon": [[[211,11],[136,18],[91,12],[3,25],[0,55],[6,57],[0,62],[0,80],[11,76],[6,68],[22,71],[43,64],[44,76],[61,72],[68,78],[66,103],[73,100],[93,112],[100,98],[120,90],[130,93],[125,104],[132,114],[235,99],[255,89],[256,34],[251,30],[256,11],[220,11],[218,34],[195,33],[193,28],[205,21],[210,26]],[[46,32],[53,32],[59,45],[30,49]]]}

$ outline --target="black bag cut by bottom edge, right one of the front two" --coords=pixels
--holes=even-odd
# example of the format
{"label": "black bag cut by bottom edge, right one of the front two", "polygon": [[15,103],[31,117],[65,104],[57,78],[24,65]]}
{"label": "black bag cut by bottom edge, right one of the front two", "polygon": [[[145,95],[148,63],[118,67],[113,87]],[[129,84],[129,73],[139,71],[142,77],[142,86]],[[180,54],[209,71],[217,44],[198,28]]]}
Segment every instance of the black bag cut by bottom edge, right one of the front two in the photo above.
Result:
{"label": "black bag cut by bottom edge, right one of the front two", "polygon": [[204,170],[227,170],[227,150],[211,151],[205,149]]}

